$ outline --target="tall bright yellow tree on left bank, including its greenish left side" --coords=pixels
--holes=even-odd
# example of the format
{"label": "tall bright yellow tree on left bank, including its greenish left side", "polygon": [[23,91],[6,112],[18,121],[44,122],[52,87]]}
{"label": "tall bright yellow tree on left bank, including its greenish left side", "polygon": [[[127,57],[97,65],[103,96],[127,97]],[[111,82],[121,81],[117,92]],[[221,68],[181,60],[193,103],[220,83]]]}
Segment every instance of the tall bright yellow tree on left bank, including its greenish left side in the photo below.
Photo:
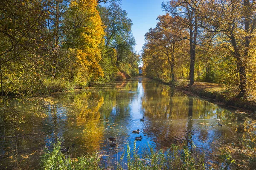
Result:
{"label": "tall bright yellow tree on left bank, including its greenish left side", "polygon": [[75,83],[91,84],[103,77],[99,62],[104,30],[96,0],[73,0],[65,18],[69,31],[65,46],[70,51],[70,67]]}

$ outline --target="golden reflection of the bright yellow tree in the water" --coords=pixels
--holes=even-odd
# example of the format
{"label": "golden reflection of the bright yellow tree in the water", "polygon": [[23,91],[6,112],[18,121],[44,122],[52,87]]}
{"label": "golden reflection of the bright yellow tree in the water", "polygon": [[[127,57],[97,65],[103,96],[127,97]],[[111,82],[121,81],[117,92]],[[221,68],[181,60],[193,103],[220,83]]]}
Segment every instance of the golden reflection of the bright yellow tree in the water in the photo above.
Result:
{"label": "golden reflection of the bright yellow tree in the water", "polygon": [[66,145],[75,144],[76,147],[84,150],[95,150],[101,147],[99,139],[103,136],[104,128],[100,120],[99,108],[103,102],[104,98],[100,93],[90,91],[78,93],[73,97],[67,94],[59,98],[58,103],[61,103],[62,109],[55,109],[55,111],[61,115],[62,119],[64,115],[66,116],[64,122],[57,122],[64,131],[64,135],[60,136],[71,135],[65,142]]}

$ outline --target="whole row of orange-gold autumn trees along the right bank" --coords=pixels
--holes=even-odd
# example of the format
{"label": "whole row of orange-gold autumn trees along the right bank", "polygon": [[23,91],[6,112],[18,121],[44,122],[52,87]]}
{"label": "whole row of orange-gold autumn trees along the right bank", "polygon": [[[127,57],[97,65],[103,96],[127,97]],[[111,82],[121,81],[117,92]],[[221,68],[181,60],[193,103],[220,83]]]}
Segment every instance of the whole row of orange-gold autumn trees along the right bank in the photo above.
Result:
{"label": "whole row of orange-gold autumn trees along the right bank", "polygon": [[[164,81],[189,79],[190,85],[194,80],[217,82],[232,86],[239,97],[255,93],[255,1],[171,0],[162,8],[166,14],[145,34],[146,75]],[[169,37],[160,26],[170,31]],[[177,46],[168,65],[164,61],[172,48],[165,39]],[[177,68],[170,67],[177,63]]]}

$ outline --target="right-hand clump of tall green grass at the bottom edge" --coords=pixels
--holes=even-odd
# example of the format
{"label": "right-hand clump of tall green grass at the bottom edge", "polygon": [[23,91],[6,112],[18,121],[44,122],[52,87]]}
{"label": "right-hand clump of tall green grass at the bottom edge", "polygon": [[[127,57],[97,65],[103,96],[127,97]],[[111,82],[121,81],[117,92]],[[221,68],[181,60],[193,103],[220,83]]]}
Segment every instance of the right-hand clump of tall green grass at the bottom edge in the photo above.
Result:
{"label": "right-hand clump of tall green grass at the bottom edge", "polygon": [[[204,170],[204,154],[193,151],[192,148],[184,146],[182,149],[173,144],[168,150],[154,150],[149,146],[149,151],[145,151],[142,155],[137,153],[136,142],[134,142],[133,150],[129,144],[126,150],[127,168],[119,164],[119,170]],[[122,162],[123,157],[119,162]]]}

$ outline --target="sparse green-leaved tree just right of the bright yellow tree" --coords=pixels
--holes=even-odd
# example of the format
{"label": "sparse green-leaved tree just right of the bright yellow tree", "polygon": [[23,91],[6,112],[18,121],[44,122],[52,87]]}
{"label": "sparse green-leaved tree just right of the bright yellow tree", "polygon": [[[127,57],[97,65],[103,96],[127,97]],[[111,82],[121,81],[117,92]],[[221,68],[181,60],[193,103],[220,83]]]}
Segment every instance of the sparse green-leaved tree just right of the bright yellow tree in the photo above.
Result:
{"label": "sparse green-leaved tree just right of the bright yellow tree", "polygon": [[[122,10],[118,3],[100,7],[99,11],[105,25],[106,52],[103,60],[111,60],[112,66],[109,64],[108,67],[131,74],[134,69],[138,68],[139,60],[134,51],[135,39],[131,32],[131,19],[127,17],[127,12]],[[131,60],[131,58],[134,59]]]}

